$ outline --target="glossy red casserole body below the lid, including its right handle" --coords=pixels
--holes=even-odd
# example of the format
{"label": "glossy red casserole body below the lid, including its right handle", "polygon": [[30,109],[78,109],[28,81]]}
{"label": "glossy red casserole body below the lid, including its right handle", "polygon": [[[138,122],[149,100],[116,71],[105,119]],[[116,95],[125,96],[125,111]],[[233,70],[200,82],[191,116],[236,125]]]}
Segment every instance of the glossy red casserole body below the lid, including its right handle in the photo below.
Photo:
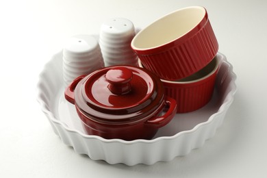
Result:
{"label": "glossy red casserole body below the lid, including its right handle", "polygon": [[[162,110],[168,108],[163,116],[159,116]],[[136,122],[125,122],[120,124],[99,123],[90,119],[88,114],[82,112],[76,105],[76,110],[81,118],[83,127],[89,135],[101,136],[106,139],[119,138],[123,140],[146,139],[149,140],[155,136],[157,129],[164,127],[175,116],[177,105],[176,101],[166,97],[166,102],[162,103],[155,112],[145,116]]]}

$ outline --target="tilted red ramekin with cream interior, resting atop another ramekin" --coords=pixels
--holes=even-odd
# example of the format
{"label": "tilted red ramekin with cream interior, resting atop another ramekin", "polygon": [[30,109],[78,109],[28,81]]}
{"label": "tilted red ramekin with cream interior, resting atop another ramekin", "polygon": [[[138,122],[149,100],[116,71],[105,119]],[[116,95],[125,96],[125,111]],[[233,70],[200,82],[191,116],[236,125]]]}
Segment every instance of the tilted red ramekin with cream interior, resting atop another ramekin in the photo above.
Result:
{"label": "tilted red ramekin with cream interior, resting atop another ramekin", "polygon": [[[175,34],[175,31],[179,30],[171,29],[174,26],[177,29],[180,29],[179,27],[182,29],[184,22],[194,20],[194,18],[191,19],[188,17],[194,16],[194,12],[198,11],[205,13],[201,21],[178,38],[170,38],[167,42],[164,41],[155,46],[151,45],[151,47],[143,47],[140,44],[143,41],[154,41],[155,39],[153,38],[162,39],[162,36],[165,37],[168,34]],[[179,24],[175,19],[181,16],[183,21],[180,21],[181,24]],[[173,23],[168,23],[169,21],[173,21]],[[160,30],[157,30],[157,33],[153,34],[152,32],[155,31],[155,26]],[[163,16],[140,31],[133,38],[131,47],[145,68],[153,71],[161,79],[170,81],[188,77],[201,70],[201,68],[211,62],[218,52],[218,42],[212,25],[209,23],[207,11],[203,7],[183,8]]]}

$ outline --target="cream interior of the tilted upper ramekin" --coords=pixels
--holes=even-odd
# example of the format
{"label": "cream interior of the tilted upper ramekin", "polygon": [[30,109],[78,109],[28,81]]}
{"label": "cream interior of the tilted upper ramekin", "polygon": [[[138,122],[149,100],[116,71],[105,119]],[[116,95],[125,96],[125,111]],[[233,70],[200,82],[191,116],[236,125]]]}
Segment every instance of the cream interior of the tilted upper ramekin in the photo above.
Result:
{"label": "cream interior of the tilted upper ramekin", "polygon": [[198,25],[206,14],[205,8],[194,6],[177,10],[142,29],[131,42],[134,49],[159,47],[180,38]]}

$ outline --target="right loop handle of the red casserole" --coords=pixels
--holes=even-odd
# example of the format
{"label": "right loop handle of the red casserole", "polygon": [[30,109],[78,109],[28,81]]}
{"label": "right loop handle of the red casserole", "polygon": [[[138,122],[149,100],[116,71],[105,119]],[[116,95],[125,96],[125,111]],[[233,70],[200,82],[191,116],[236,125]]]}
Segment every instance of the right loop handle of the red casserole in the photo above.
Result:
{"label": "right loop handle of the red casserole", "polygon": [[177,112],[177,103],[176,100],[171,97],[166,97],[166,105],[168,107],[168,110],[163,116],[155,116],[152,118],[149,118],[144,124],[148,127],[155,127],[160,128],[164,125],[168,124],[170,120],[175,116]]}

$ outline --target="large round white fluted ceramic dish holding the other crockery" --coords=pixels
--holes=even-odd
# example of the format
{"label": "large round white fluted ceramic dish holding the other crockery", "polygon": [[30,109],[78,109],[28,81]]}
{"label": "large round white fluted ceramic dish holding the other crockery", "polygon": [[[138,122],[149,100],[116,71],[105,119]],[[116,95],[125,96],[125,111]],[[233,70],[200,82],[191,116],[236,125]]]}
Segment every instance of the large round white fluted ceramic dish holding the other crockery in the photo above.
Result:
{"label": "large round white fluted ceramic dish holding the other crockery", "polygon": [[40,74],[38,101],[62,142],[92,160],[129,166],[169,162],[202,147],[223,123],[236,92],[236,75],[225,55],[218,53],[217,57],[220,68],[212,100],[199,110],[177,114],[152,140],[106,140],[88,136],[81,127],[74,105],[64,99],[62,51],[53,56]]}

